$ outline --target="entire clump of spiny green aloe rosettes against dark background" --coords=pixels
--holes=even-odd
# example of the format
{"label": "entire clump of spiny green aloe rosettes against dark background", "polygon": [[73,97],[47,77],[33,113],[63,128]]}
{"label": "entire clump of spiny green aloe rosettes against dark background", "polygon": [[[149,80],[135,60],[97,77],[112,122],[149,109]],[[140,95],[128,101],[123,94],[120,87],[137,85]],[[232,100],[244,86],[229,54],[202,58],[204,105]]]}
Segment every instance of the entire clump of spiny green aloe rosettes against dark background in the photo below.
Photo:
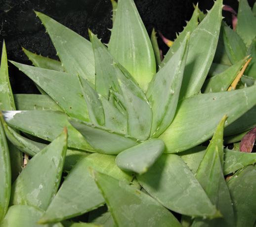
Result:
{"label": "entire clump of spiny green aloe rosettes against dark background", "polygon": [[161,61],[133,0],[112,5],[107,46],[36,12],[60,61],[11,63],[41,95],[12,94],[3,45],[0,227],[254,227],[256,155],[223,149],[256,125],[254,10],[239,1],[235,33],[222,0],[196,6]]}

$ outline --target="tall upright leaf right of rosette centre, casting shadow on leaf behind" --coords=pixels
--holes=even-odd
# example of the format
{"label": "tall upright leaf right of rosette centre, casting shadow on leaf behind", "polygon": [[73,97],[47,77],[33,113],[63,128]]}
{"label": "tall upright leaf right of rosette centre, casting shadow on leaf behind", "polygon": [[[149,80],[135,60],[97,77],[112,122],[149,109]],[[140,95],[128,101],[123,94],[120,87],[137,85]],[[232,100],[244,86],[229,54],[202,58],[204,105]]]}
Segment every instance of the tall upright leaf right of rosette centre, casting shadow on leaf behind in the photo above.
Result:
{"label": "tall upright leaf right of rosette centre, casting shadow on leaf behind", "polygon": [[171,124],[176,112],[188,53],[189,34],[166,65],[151,80],[146,96],[153,113],[150,136],[157,138]]}

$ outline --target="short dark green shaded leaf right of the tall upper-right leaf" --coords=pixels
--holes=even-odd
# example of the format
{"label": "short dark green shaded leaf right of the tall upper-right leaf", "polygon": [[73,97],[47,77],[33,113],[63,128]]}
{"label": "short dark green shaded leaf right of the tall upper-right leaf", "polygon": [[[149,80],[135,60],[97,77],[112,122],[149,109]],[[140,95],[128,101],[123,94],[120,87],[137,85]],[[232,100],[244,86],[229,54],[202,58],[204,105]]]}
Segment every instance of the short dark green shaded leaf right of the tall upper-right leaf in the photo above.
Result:
{"label": "short dark green shaded leaf right of the tall upper-right leaf", "polygon": [[246,56],[246,45],[237,33],[222,21],[224,47],[230,62],[235,64]]}

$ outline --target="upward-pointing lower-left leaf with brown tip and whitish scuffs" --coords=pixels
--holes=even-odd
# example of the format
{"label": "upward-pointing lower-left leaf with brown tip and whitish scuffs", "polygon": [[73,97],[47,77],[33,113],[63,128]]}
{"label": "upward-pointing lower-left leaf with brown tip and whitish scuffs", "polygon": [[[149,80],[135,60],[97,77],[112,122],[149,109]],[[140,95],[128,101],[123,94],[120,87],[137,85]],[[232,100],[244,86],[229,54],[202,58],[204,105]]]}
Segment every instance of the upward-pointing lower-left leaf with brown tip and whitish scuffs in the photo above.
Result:
{"label": "upward-pointing lower-left leaf with brown tip and whitish scuffs", "polygon": [[57,193],[67,151],[67,129],[31,158],[11,187],[10,204],[45,210]]}

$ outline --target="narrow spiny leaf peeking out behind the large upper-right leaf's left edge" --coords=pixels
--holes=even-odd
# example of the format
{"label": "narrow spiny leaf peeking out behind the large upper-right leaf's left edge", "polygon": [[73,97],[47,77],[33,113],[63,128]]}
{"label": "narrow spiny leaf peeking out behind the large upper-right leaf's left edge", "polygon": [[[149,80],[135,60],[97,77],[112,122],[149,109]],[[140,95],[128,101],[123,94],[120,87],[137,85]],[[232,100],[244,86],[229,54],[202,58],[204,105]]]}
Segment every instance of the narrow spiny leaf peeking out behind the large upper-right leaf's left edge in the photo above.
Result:
{"label": "narrow spiny leaf peeking out behind the large upper-right leaf's left edge", "polygon": [[191,34],[196,29],[197,26],[198,26],[198,4],[196,5],[194,13],[193,13],[190,21],[187,23],[187,26],[178,35],[178,37],[175,39],[175,41],[171,45],[170,49],[168,50],[166,56],[163,59],[161,67],[163,67],[171,59],[172,55],[178,50],[178,48],[180,47],[180,44],[186,38],[187,33]]}

